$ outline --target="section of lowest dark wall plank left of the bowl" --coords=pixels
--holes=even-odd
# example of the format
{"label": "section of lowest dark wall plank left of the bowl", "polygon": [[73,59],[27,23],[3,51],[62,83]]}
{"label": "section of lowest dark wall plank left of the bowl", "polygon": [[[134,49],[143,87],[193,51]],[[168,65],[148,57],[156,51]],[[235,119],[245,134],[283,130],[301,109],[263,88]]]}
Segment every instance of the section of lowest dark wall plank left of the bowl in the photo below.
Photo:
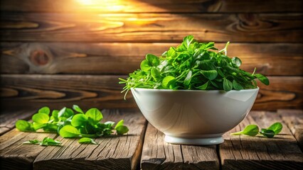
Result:
{"label": "section of lowest dark wall plank left of the bowl", "polygon": [[[1,75],[1,88],[18,95],[1,98],[1,107],[11,108],[134,108],[131,93],[124,101],[119,77],[78,75]],[[124,77],[125,78],[125,77]]]}

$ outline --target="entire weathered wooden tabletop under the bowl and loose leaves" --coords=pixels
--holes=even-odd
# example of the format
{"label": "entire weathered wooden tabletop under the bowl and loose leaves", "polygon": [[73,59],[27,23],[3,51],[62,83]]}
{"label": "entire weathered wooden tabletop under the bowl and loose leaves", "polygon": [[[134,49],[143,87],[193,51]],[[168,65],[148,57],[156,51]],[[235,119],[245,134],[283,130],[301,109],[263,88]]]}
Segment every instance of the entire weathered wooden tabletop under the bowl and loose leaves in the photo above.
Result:
{"label": "entire weathered wooden tabletop under the bowl and loose leaves", "polygon": [[[35,111],[10,111],[0,115],[1,169],[303,169],[303,111],[251,111],[237,127],[268,127],[282,122],[274,138],[232,136],[220,145],[171,145],[164,134],[147,123],[139,111],[104,110],[107,120],[124,119],[129,133],[102,137],[99,145],[79,144],[56,134],[19,132],[18,119],[31,119]],[[53,137],[62,147],[22,145],[26,140]]]}

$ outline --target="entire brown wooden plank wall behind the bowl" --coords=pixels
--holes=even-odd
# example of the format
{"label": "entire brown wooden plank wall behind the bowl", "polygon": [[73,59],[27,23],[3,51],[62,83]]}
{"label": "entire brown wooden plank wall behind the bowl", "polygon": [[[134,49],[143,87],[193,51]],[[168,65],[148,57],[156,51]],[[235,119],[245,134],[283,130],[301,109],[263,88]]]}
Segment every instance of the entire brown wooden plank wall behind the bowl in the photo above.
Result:
{"label": "entire brown wooden plank wall behind the bowl", "polygon": [[[97,3],[97,4],[90,4]],[[134,108],[118,77],[185,35],[265,74],[253,109],[302,108],[302,0],[1,0],[1,108]]]}

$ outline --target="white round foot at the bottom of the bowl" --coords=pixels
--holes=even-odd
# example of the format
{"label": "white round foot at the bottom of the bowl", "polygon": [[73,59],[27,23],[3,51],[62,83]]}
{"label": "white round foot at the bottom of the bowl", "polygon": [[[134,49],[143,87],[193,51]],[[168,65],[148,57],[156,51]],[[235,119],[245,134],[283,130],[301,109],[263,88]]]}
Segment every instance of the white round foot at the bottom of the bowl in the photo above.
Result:
{"label": "white round foot at the bottom of the bowl", "polygon": [[184,138],[165,135],[165,142],[179,145],[217,145],[223,143],[223,137]]}

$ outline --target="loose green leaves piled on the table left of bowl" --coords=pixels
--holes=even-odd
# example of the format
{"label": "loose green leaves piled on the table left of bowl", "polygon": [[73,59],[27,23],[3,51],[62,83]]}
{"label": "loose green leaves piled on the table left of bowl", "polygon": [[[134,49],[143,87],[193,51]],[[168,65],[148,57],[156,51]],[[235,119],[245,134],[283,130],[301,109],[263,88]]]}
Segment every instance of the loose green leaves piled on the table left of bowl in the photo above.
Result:
{"label": "loose green leaves piled on the table left of bowl", "polygon": [[[97,108],[90,108],[88,111],[83,110],[74,105],[71,108],[62,108],[60,111],[53,110],[50,114],[50,108],[43,107],[38,113],[32,117],[32,123],[26,120],[18,120],[16,128],[23,132],[56,132],[61,137],[78,138],[80,143],[94,143],[90,137],[102,137],[112,135],[123,135],[128,132],[124,120],[120,120],[117,124],[112,121],[100,123],[103,115]],[[51,141],[50,141],[51,140]],[[44,139],[42,142],[31,140],[25,144],[48,145],[48,143],[58,145],[53,139]]]}

